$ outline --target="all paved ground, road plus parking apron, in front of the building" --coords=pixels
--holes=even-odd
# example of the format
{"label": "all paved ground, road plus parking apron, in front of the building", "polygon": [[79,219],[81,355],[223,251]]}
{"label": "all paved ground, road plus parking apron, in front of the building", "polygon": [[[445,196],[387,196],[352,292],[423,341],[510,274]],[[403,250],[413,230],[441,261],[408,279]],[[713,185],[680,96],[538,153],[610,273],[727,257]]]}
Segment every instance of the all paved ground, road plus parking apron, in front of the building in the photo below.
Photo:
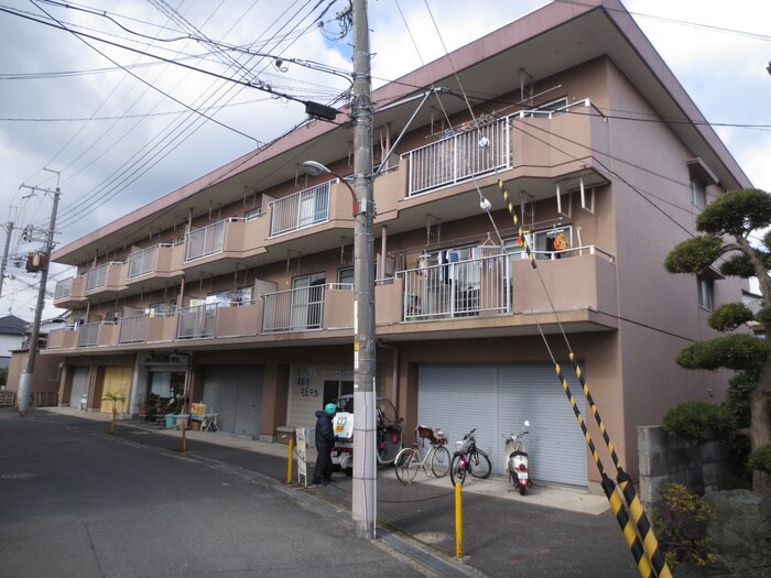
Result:
{"label": "all paved ground, road plus parking apron, in front of the building", "polygon": [[119,422],[110,436],[77,415],[0,410],[2,578],[640,576],[608,511],[537,503],[560,490],[464,491],[460,563],[448,481],[405,487],[381,469],[378,539],[361,541],[351,479],[286,487],[286,446],[203,434],[182,454],[178,432]]}

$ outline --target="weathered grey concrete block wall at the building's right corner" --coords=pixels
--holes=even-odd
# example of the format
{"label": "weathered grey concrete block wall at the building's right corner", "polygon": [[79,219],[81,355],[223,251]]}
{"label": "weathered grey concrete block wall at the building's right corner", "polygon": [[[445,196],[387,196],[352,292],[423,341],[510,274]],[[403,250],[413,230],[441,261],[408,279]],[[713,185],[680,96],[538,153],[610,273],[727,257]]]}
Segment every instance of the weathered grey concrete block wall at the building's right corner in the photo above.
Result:
{"label": "weathered grey concrete block wall at the building's right corner", "polygon": [[694,444],[670,436],[661,426],[638,427],[640,500],[651,504],[667,482],[689,491],[717,490],[725,470],[725,448],[718,441]]}

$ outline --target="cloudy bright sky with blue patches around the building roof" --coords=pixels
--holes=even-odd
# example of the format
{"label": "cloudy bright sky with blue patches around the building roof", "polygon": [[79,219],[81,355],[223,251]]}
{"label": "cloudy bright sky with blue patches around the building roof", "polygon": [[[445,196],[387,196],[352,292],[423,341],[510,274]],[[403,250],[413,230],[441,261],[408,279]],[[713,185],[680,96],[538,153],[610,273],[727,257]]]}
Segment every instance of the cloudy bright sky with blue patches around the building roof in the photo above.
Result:
{"label": "cloudy bright sky with blue patches around the building roof", "polygon": [[[0,219],[19,229],[47,228],[51,194],[30,187],[53,189],[59,179],[59,244],[302,122],[303,105],[276,94],[329,102],[347,86],[340,76],[313,69],[314,63],[350,69],[351,36],[335,40],[343,0],[83,1],[69,3],[77,10],[51,1],[0,0],[0,10],[23,14],[0,11]],[[545,3],[370,0],[373,85]],[[315,19],[328,4],[322,29]],[[771,2],[625,0],[625,6],[753,185],[771,190],[765,70]],[[99,15],[105,11],[111,18]],[[61,25],[80,35],[54,28]],[[242,48],[312,67],[276,66]],[[219,76],[265,83],[273,95]],[[17,231],[11,254],[40,244],[23,242]],[[32,319],[36,292],[28,285],[36,279],[13,261],[9,274],[17,279],[4,282],[0,315]],[[70,274],[54,266],[50,288]],[[47,305],[44,317],[56,313]]]}

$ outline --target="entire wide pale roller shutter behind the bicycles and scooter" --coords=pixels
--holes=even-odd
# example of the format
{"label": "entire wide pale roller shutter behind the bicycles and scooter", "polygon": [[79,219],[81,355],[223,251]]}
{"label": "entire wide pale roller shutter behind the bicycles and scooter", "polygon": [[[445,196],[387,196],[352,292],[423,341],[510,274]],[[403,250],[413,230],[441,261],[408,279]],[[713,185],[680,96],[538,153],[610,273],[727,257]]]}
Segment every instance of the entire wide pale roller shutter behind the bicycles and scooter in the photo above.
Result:
{"label": "entire wide pale roller shutter behind the bicycles and scooter", "polygon": [[[567,381],[586,417],[580,384],[575,377]],[[529,419],[525,444],[533,479],[588,483],[584,435],[549,363],[421,364],[417,419],[448,434],[450,451],[457,439],[476,427],[477,445],[490,456],[492,471],[501,475],[506,473],[506,436]]]}

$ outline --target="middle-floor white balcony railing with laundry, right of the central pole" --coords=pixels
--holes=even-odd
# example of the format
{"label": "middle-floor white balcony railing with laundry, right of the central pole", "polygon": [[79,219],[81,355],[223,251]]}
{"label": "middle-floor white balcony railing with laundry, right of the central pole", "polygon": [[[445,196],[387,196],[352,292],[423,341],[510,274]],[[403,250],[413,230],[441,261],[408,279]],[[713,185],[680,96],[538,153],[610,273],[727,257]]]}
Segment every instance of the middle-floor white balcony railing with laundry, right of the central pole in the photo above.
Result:
{"label": "middle-floor white balcony railing with laundry, right of the central pole", "polygon": [[497,254],[399,271],[406,321],[511,310],[509,257]]}

